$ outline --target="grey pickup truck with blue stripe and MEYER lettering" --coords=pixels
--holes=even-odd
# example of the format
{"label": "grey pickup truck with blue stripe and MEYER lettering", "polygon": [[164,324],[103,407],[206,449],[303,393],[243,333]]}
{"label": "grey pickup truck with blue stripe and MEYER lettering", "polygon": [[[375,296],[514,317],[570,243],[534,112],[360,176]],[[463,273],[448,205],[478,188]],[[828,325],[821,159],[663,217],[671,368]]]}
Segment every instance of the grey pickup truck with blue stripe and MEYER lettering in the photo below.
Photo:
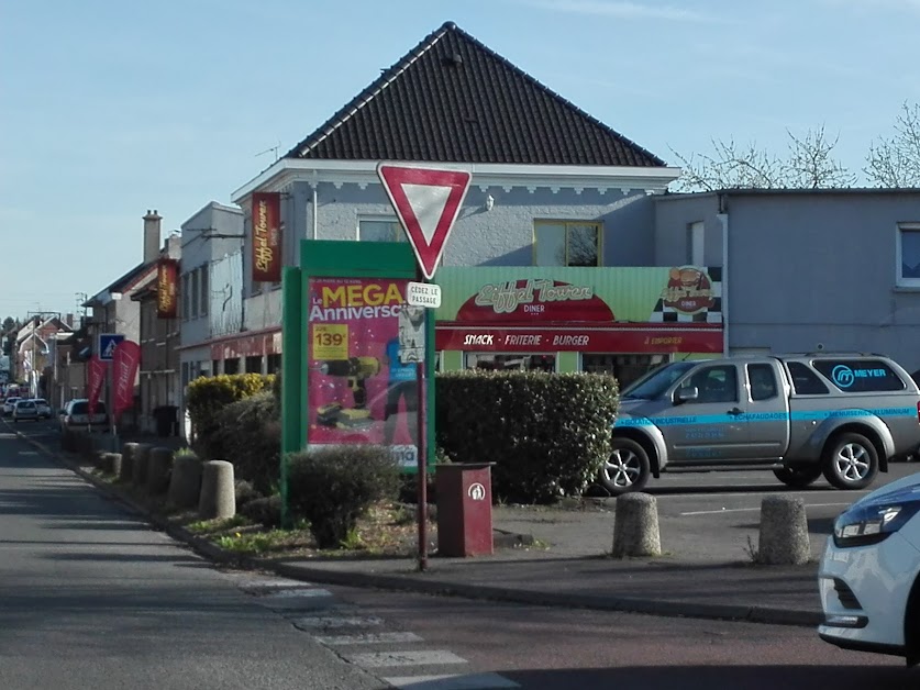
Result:
{"label": "grey pickup truck with blue stripe and MEYER lettering", "polygon": [[642,490],[675,469],[768,468],[863,489],[920,446],[920,389],[882,355],[673,361],[624,389],[599,483]]}

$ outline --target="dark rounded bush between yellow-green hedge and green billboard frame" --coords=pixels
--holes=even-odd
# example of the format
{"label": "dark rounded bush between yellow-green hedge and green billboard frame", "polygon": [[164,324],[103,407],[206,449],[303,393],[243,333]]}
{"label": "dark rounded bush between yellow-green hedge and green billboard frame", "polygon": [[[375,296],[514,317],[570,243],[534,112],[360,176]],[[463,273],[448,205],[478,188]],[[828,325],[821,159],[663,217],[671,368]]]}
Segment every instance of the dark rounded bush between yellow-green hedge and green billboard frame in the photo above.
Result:
{"label": "dark rounded bush between yellow-green hedge and green billboard frame", "polygon": [[270,493],[280,474],[280,410],[270,391],[256,393],[223,408],[201,452],[209,459],[229,460],[233,475],[252,483],[262,494]]}

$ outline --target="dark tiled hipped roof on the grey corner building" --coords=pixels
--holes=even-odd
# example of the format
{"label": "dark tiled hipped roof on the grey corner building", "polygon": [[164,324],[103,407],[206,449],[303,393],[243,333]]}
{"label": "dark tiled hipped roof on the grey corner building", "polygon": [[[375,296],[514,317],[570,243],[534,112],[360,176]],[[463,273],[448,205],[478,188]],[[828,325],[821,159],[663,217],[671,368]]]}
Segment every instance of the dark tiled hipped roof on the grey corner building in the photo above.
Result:
{"label": "dark tiled hipped roof on the grey corner building", "polygon": [[447,22],[286,158],[664,166]]}

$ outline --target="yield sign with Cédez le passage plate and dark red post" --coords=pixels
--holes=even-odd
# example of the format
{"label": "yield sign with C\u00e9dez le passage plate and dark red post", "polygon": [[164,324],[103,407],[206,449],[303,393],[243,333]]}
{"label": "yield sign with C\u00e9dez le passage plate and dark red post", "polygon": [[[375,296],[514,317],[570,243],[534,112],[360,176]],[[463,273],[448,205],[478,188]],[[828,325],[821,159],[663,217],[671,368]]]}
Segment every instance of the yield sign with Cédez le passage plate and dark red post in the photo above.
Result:
{"label": "yield sign with C\u00e9dez le passage plate and dark red post", "polygon": [[[463,208],[473,174],[468,169],[434,167],[406,163],[377,165],[377,175],[387,191],[402,230],[412,244],[419,261],[419,280],[409,283],[407,303],[422,307],[423,329],[428,330],[431,308],[441,303],[441,288],[425,281],[434,277],[444,254],[454,221]],[[413,287],[415,286],[415,287]],[[430,290],[436,288],[435,290]],[[435,304],[436,302],[436,304]],[[429,353],[415,367],[419,386],[419,438],[428,437],[428,397],[425,370]],[[428,569],[428,454],[425,443],[419,443],[419,570]]]}

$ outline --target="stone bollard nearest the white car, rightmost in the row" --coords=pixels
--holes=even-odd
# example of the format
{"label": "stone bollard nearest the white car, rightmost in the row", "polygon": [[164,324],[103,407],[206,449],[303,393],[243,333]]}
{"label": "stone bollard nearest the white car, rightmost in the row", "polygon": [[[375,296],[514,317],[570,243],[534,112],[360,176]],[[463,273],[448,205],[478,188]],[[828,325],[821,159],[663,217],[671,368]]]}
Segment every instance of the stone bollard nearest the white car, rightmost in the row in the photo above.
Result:
{"label": "stone bollard nearest the white car, rightmost in the row", "polygon": [[771,496],[761,503],[761,541],[757,563],[798,566],[811,558],[805,501],[791,496]]}

